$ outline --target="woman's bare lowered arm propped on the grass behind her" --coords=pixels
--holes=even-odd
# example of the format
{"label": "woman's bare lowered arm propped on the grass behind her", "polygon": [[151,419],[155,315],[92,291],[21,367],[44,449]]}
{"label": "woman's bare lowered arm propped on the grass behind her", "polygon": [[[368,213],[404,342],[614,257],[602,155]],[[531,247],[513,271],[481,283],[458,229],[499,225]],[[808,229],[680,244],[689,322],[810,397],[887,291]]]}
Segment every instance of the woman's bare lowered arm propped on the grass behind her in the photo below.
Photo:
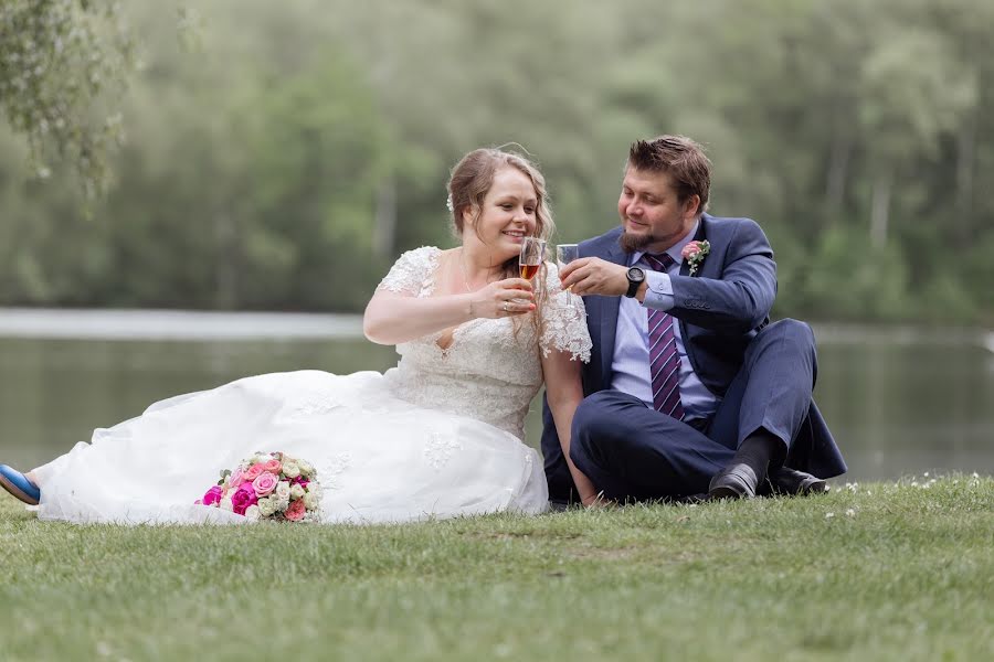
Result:
{"label": "woman's bare lowered arm propped on the grass behind her", "polygon": [[562,455],[570,468],[570,476],[580,492],[583,505],[592,505],[598,501],[598,489],[586,476],[580,471],[573,460],[570,459],[570,435],[573,427],[573,414],[583,399],[583,386],[580,382],[580,361],[571,360],[570,352],[551,351],[542,359],[542,373],[546,378],[546,398],[552,419],[556,421],[556,430],[559,434],[559,445]]}

